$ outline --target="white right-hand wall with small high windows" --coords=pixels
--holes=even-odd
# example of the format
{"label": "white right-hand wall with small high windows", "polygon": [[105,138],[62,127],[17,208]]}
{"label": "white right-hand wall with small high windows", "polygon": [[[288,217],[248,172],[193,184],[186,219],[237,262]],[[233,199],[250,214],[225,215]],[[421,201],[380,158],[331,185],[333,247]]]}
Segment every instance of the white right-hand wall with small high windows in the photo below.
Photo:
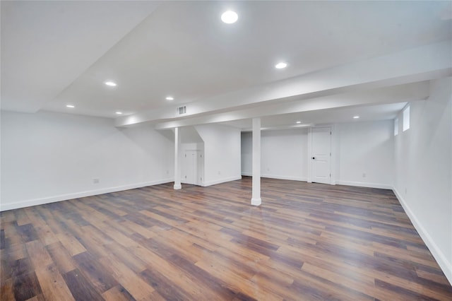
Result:
{"label": "white right-hand wall with small high windows", "polygon": [[395,138],[394,190],[452,283],[452,78],[432,81],[427,100],[410,103],[410,129]]}

